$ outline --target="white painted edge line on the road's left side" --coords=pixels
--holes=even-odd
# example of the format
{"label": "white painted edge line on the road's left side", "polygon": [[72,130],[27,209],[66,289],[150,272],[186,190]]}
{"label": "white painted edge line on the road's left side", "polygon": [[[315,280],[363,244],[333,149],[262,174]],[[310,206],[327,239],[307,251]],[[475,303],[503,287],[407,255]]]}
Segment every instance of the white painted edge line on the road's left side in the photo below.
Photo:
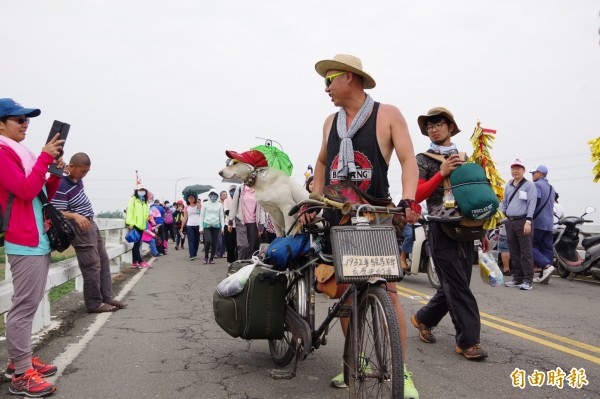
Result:
{"label": "white painted edge line on the road's left side", "polygon": [[[148,263],[152,264],[153,262],[154,258],[150,259],[150,262]],[[119,292],[119,295],[117,295],[114,299],[118,301],[123,299],[125,295],[127,295],[129,291],[131,291],[131,289],[142,278],[142,276],[144,275],[144,273],[146,273],[147,270],[148,269],[144,268],[138,274],[133,276],[131,280],[129,280],[127,284],[125,284],[121,292]],[[85,348],[86,345],[92,340],[92,338],[94,338],[94,336],[96,335],[96,333],[98,333],[98,331],[100,331],[102,326],[106,324],[106,322],[108,321],[110,316],[112,316],[112,314],[113,312],[106,312],[99,313],[96,315],[96,320],[94,320],[94,322],[89,326],[87,332],[81,337],[79,342],[67,345],[64,352],[58,355],[56,359],[54,359],[52,365],[56,366],[58,368],[58,371],[52,377],[46,378],[47,381],[51,382],[52,384],[56,383],[56,380],[58,380],[62,376],[63,371],[73,362],[73,360],[75,360],[77,356],[79,356],[83,348]]]}

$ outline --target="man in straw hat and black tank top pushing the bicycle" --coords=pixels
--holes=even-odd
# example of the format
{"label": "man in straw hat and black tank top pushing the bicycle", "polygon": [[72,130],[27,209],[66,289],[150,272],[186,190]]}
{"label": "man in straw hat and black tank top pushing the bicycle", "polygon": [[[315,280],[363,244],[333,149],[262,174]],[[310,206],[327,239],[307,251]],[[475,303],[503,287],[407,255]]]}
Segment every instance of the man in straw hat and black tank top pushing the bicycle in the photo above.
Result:
{"label": "man in straw hat and black tank top pushing the bicycle", "polygon": [[[390,198],[387,174],[395,151],[402,166],[403,200],[399,206],[405,208],[407,222],[415,223],[420,216],[420,207],[414,201],[418,166],[402,113],[393,105],[373,101],[365,93],[365,89],[375,87],[375,80],[363,70],[359,58],[338,54],[332,60],[317,62],[315,69],[325,78],[325,92],[339,111],[325,119],[313,191],[322,193],[326,185],[351,181],[373,197]],[[324,217],[332,226],[339,222],[332,213]],[[396,285],[388,283],[387,288],[400,325],[402,347],[406,348],[406,323]],[[345,334],[347,319],[342,318],[341,325]],[[345,387],[343,373],[331,383]],[[406,367],[404,397],[419,397]]]}

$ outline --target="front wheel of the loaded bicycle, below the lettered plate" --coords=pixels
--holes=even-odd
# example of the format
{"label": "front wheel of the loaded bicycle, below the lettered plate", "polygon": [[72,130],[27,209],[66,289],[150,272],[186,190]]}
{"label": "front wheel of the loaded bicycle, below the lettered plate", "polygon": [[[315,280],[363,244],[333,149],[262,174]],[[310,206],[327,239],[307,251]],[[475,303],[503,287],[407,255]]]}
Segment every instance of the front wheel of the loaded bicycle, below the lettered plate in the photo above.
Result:
{"label": "front wheel of the loaded bicycle, below the lettered plate", "polygon": [[[356,332],[352,327],[355,317]],[[344,375],[350,398],[404,398],[400,327],[392,300],[382,287],[364,290],[359,296],[358,314],[350,316]]]}

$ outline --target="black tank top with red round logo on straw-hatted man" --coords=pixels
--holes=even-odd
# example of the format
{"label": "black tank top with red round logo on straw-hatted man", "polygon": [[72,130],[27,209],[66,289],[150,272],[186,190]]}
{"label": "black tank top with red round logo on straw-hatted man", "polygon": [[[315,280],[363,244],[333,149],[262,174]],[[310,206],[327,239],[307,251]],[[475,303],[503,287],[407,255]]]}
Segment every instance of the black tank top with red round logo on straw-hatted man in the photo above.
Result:
{"label": "black tank top with red round logo on straw-hatted man", "polygon": [[[388,164],[377,143],[377,111],[379,103],[373,105],[373,111],[365,124],[358,129],[352,138],[354,147],[354,163],[356,173],[351,173],[349,178],[357,187],[377,198],[389,198],[390,185],[387,179]],[[327,162],[325,164],[325,185],[338,184],[340,179],[336,176],[340,152],[340,137],[337,132],[336,114],[333,118],[329,139],[327,141]]]}

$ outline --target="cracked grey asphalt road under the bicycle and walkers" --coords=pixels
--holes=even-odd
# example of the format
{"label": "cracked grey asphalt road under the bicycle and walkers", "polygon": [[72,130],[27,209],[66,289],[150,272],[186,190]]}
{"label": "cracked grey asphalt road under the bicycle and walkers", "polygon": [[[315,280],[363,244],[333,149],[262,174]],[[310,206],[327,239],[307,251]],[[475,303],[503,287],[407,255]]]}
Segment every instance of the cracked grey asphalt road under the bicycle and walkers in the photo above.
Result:
{"label": "cracked grey asphalt road under the bicycle and walkers", "polygon": [[[329,343],[300,362],[292,380],[273,380],[266,341],[232,338],[215,323],[212,295],[227,265],[189,262],[171,251],[145,271],[124,270],[115,284],[129,304],[112,314],[88,315],[81,294],[53,305],[62,327],[46,337],[36,354],[60,366],[56,398],[342,398],[329,386],[341,371],[339,326]],[[120,279],[121,280],[121,279]],[[419,341],[407,327],[407,363],[421,398],[600,398],[600,285],[552,277],[531,291],[484,285],[474,269],[472,289],[482,317],[483,362],[454,353],[449,317],[434,330],[438,342]],[[433,295],[425,275],[407,276],[398,289],[406,320]],[[333,301],[319,298],[322,317]],[[318,317],[319,318],[319,317]],[[408,322],[409,323],[409,322]],[[6,360],[0,342],[0,361]],[[577,377],[562,389],[547,380],[513,386],[515,370]],[[571,372],[575,369],[574,372]],[[537,370],[537,371],[536,371]],[[585,382],[587,382],[587,384]],[[0,397],[7,397],[7,384]]]}

